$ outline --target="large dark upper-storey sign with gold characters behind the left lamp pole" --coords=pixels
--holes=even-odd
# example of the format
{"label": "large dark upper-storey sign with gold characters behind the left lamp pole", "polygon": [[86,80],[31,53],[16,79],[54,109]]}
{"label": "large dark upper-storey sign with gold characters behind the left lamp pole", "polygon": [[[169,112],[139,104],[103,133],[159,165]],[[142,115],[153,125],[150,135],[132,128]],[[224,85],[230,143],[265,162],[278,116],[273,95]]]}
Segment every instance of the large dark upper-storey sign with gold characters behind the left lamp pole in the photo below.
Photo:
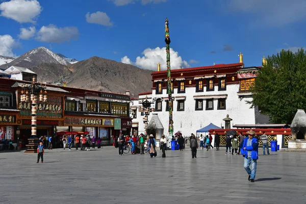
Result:
{"label": "large dark upper-storey sign with gold characters behind the left lamp pole", "polygon": [[[62,117],[62,97],[47,96],[47,102],[38,102],[36,105],[37,118],[61,118]],[[31,117],[31,101],[20,102],[18,105],[20,117]]]}

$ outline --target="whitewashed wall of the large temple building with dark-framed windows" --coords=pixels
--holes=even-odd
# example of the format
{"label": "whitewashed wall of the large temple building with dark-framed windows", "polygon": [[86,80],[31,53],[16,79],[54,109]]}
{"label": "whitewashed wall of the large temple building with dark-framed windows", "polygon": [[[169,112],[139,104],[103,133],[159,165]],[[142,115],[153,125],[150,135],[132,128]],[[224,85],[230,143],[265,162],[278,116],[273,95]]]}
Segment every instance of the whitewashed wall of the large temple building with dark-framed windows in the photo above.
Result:
{"label": "whitewashed wall of the large temple building with dark-framed windows", "polygon": [[[173,87],[174,88],[174,87]],[[195,92],[195,87],[187,87],[186,93],[177,93],[177,88],[174,88],[172,97],[174,96],[186,96],[185,98],[185,111],[176,111],[177,110],[177,101],[173,101],[173,129],[174,133],[177,131],[182,132],[183,136],[189,136],[191,133],[196,133],[196,130],[201,129],[201,127],[207,126],[209,123],[214,123],[217,126],[224,126],[223,118],[226,117],[226,114],[230,115],[231,126],[233,124],[255,124],[255,114],[254,109],[250,109],[250,105],[246,104],[246,100],[251,98],[245,98],[240,100],[237,95],[239,91],[239,84],[226,85],[226,91],[218,91],[218,86],[215,86],[215,91],[206,92],[206,87],[203,87],[205,90],[203,92]],[[163,89],[163,94],[155,94],[155,90],[152,90],[150,95],[140,95],[139,99],[144,99],[147,96],[149,101],[152,101],[152,98],[166,98],[168,94],[166,89]],[[205,110],[206,109],[206,100],[203,99],[203,110],[195,111],[195,99],[193,96],[197,95],[221,95],[227,94],[226,98],[226,110],[217,110],[218,99],[214,99],[214,110]],[[139,106],[138,100],[134,101],[132,106]],[[155,108],[155,104],[151,105],[151,108]],[[158,113],[158,116],[164,126],[164,134],[168,134],[168,124],[169,124],[169,112],[166,110],[166,101],[163,100],[162,103],[162,112]],[[133,119],[133,122],[139,122],[138,131],[139,133],[144,132],[144,123],[143,117],[140,115],[141,112],[137,111],[137,118]],[[148,116],[150,120],[152,113]]]}

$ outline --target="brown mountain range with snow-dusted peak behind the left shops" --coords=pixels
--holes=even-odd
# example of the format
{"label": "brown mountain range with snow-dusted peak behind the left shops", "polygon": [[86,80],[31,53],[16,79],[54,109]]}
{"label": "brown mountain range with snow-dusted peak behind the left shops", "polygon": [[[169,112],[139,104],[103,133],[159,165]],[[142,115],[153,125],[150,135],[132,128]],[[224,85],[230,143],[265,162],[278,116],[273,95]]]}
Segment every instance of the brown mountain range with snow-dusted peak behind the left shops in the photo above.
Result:
{"label": "brown mountain range with snow-dusted peak behind the left shops", "polygon": [[[3,62],[3,63],[2,63]],[[37,81],[63,84],[68,87],[132,94],[151,90],[150,70],[140,69],[99,57],[78,61],[38,47],[14,59],[0,56],[0,69],[10,66],[26,67],[37,73]]]}

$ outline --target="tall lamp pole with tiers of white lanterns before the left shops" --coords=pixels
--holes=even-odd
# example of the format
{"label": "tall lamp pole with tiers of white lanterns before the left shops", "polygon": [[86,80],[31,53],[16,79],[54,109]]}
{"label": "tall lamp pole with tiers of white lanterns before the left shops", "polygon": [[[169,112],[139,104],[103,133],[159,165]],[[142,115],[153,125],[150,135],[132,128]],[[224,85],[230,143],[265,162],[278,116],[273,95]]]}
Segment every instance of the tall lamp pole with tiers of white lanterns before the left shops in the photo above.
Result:
{"label": "tall lamp pole with tiers of white lanterns before the left shops", "polygon": [[[35,83],[35,76],[33,77],[32,84],[29,86],[24,85],[23,88],[26,89],[25,94],[23,94],[23,90],[21,91],[20,95],[20,102],[29,101],[28,94],[30,93],[30,100],[32,103],[32,115],[31,115],[31,137],[36,137],[36,127],[37,127],[37,120],[36,120],[36,111],[37,111],[37,98],[39,98],[39,102],[46,102],[47,101],[47,95],[43,95],[43,90],[46,89],[46,87],[42,85],[38,85]],[[44,93],[47,93],[45,90]],[[38,97],[37,97],[38,95]]]}

